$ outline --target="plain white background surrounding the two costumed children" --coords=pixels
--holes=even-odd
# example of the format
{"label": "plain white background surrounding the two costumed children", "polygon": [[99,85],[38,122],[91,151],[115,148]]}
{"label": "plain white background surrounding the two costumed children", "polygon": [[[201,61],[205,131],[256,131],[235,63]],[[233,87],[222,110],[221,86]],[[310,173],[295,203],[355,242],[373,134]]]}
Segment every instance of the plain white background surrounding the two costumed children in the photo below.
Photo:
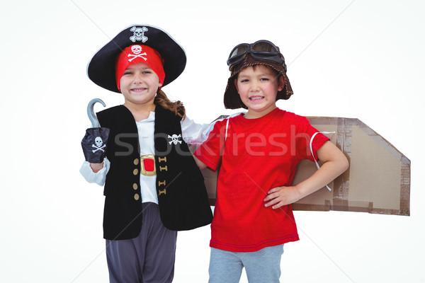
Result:
{"label": "plain white background surrounding the two costumed children", "polygon": [[[267,39],[295,93],[279,108],[359,118],[412,161],[411,216],[295,212],[301,240],[285,245],[281,282],[425,282],[423,1],[24,0],[0,11],[0,282],[108,282],[103,188],[79,175],[80,141],[89,100],[123,98],[86,64],[135,23],[185,48],[186,70],[164,91],[196,122],[232,112],[232,47]],[[208,226],[179,233],[174,282],[207,282],[209,239]]]}

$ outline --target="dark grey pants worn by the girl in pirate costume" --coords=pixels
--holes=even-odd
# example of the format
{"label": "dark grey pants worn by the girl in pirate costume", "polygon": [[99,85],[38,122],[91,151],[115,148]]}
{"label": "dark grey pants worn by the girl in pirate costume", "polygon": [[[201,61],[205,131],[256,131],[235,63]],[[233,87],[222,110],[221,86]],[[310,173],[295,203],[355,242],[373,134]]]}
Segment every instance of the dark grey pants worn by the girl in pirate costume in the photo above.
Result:
{"label": "dark grey pants worn by the girl in pirate costume", "polygon": [[168,283],[173,281],[177,231],[166,229],[158,204],[146,202],[137,238],[106,240],[111,283]]}

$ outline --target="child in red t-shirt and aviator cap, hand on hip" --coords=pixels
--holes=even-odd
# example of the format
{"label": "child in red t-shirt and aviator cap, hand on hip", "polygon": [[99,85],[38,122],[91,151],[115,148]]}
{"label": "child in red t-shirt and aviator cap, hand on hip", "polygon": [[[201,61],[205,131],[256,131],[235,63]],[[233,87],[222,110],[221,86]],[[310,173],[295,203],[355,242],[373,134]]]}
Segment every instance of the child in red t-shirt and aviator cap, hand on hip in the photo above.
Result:
{"label": "child in red t-shirt and aviator cap, hand on hip", "polygon": [[[307,118],[276,107],[293,94],[276,45],[237,45],[227,64],[225,108],[248,112],[216,122],[195,152],[201,169],[220,165],[210,283],[239,282],[244,267],[249,282],[279,282],[283,244],[299,240],[291,204],[341,175],[348,161]],[[292,186],[297,164],[317,158],[323,166]]]}

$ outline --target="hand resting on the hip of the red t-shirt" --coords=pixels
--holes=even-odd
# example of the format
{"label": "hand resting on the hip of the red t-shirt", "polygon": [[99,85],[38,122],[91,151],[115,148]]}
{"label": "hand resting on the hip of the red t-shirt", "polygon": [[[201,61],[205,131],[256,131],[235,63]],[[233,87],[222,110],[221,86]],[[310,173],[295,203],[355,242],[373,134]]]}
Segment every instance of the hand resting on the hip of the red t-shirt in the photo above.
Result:
{"label": "hand resting on the hip of the red t-shirt", "polygon": [[267,192],[264,206],[272,206],[271,208],[278,209],[283,207],[283,205],[292,204],[300,199],[301,195],[297,187],[273,187]]}

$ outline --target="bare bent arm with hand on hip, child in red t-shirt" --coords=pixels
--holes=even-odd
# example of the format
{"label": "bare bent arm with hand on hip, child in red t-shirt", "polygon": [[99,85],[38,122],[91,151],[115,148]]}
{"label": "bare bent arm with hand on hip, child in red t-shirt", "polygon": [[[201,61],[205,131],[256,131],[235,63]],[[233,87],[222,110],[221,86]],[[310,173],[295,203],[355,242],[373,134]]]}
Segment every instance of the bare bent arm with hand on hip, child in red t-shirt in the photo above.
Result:
{"label": "bare bent arm with hand on hip, child in red t-shirt", "polygon": [[326,141],[317,150],[317,157],[323,161],[323,165],[314,172],[310,178],[302,181],[298,185],[291,187],[273,187],[268,191],[264,199],[265,206],[272,206],[277,209],[286,204],[291,204],[301,200],[303,197],[312,194],[325,185],[331,183],[336,177],[348,169],[348,160],[331,141]]}

